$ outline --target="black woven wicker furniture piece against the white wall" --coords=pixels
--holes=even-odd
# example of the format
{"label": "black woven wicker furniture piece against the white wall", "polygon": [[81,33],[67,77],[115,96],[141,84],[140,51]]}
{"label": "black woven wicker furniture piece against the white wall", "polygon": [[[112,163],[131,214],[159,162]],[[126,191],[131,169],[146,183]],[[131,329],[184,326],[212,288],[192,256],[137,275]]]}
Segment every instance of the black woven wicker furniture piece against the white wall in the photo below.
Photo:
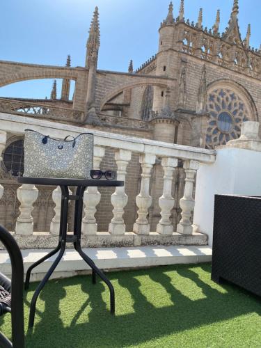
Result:
{"label": "black woven wicker furniture piece against the white wall", "polygon": [[261,198],[215,196],[212,280],[261,296]]}

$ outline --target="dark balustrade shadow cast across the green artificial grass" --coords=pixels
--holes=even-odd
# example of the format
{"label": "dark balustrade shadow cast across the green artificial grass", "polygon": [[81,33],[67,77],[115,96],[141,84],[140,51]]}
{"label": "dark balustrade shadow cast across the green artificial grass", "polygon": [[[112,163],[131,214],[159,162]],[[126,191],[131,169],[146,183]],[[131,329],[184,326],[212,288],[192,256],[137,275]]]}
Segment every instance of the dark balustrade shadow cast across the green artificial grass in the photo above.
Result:
{"label": "dark balustrade shadow cast across the green artificial grass", "polygon": [[[200,267],[201,273],[208,273],[207,282],[211,284],[209,264],[109,273],[109,278],[115,284],[118,281],[120,287],[126,288],[134,301],[134,313],[117,315],[116,290],[116,316],[109,313],[109,290],[102,281],[93,285],[90,276],[51,281],[40,295],[45,301],[45,310],[40,315],[40,322],[35,324],[33,333],[27,334],[26,347],[126,347],[246,313],[255,312],[260,315],[260,299],[228,284],[222,285],[226,292],[219,292],[215,286],[210,286],[200,278],[196,271]],[[203,298],[193,301],[185,296],[185,292],[177,290],[171,273],[175,271],[179,277],[188,278],[200,287]],[[141,282],[137,279],[140,276],[149,276],[151,280],[161,284],[170,295],[173,305],[155,308],[148,302],[140,289]],[[65,327],[59,310],[59,302],[65,298],[63,286],[79,283],[86,293],[86,301],[82,305],[79,303],[80,309],[74,315],[70,326]],[[102,297],[104,289],[108,292],[108,303]],[[153,288],[150,291],[153,292]],[[88,322],[77,324],[87,306],[90,306]],[[70,303],[66,308],[70,310]]]}

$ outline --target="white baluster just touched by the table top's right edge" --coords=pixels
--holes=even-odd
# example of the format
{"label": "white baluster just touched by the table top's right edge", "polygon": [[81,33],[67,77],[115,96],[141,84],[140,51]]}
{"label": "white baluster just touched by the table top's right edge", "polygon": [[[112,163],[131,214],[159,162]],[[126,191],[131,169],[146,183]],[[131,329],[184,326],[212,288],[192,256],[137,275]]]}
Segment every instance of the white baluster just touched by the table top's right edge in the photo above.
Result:
{"label": "white baluster just touched by the table top's right edge", "polygon": [[[125,182],[127,174],[127,165],[132,158],[132,151],[118,150],[115,154],[117,164],[117,180]],[[125,223],[122,219],[124,207],[127,205],[128,196],[125,193],[125,186],[116,187],[115,192],[111,195],[111,204],[113,205],[113,218],[109,224],[109,232],[112,235],[123,235],[125,233]]]}

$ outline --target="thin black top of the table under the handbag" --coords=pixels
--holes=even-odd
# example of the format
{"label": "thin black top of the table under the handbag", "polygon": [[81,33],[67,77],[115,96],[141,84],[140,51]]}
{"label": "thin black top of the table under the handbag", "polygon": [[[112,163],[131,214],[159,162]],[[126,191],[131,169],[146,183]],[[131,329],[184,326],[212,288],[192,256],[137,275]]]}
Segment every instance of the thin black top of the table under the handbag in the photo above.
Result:
{"label": "thin black top of the table under the handbag", "polygon": [[56,177],[17,177],[20,184],[50,185],[50,186],[84,186],[84,187],[119,187],[124,181],[94,180],[94,179],[60,179]]}

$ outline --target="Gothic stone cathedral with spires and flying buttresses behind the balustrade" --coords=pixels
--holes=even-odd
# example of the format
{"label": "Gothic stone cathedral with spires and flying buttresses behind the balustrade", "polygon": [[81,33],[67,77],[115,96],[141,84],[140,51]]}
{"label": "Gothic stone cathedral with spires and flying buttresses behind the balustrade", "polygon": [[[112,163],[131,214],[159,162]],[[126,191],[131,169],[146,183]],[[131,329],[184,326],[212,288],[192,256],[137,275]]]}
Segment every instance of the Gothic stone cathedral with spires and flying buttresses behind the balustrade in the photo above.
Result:
{"label": "Gothic stone cathedral with spires and flying buttresses behind the balustrade", "polygon": [[[132,61],[127,72],[97,69],[98,8],[90,24],[84,67],[73,68],[70,56],[65,66],[0,61],[0,86],[30,79],[54,79],[49,99],[0,98],[0,112],[200,148],[212,149],[237,139],[242,122],[259,120],[261,113],[261,49],[250,46],[251,26],[242,39],[237,19],[238,0],[231,3],[228,26],[223,33],[219,32],[219,10],[209,29],[203,26],[201,8],[195,23],[184,17],[184,0],[178,6],[176,18],[172,2],[166,9],[166,18],[159,26],[157,54],[135,71]],[[63,81],[61,96],[56,93],[56,79]],[[72,81],[74,93],[70,100]],[[14,230],[18,214],[15,193],[18,186],[14,177],[23,173],[22,146],[23,139],[10,136],[3,150],[0,183],[5,191],[0,200],[0,223],[9,230]],[[150,187],[153,203],[148,219],[152,230],[160,217],[157,203],[163,185],[160,163],[158,158]],[[110,148],[106,149],[101,168],[116,168]],[[127,167],[127,231],[136,219],[135,197],[139,193],[140,177],[139,156],[133,153]],[[52,190],[38,189],[32,214],[35,230],[45,231],[54,216]],[[180,216],[177,203],[183,189],[184,171],[180,163],[173,180],[174,229]],[[101,193],[103,199],[96,215],[99,230],[107,231],[112,217],[112,191],[101,189]]]}

